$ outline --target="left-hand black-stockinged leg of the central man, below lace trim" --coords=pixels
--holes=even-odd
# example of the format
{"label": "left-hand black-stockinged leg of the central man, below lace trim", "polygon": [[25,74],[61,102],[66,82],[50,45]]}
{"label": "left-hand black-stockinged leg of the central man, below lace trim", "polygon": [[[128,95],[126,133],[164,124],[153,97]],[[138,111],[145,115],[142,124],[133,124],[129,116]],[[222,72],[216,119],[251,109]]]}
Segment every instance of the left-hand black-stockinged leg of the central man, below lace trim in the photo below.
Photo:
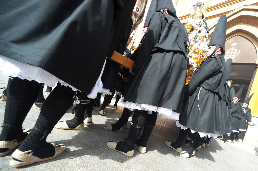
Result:
{"label": "left-hand black-stockinged leg of the central man, below lace trim", "polygon": [[[148,116],[148,112],[144,110],[135,110],[132,118],[131,128],[128,134],[128,137],[125,142],[118,142],[116,146],[116,150],[124,151],[132,151],[134,149],[134,144],[146,123],[146,119]],[[126,151],[126,152],[127,152]]]}

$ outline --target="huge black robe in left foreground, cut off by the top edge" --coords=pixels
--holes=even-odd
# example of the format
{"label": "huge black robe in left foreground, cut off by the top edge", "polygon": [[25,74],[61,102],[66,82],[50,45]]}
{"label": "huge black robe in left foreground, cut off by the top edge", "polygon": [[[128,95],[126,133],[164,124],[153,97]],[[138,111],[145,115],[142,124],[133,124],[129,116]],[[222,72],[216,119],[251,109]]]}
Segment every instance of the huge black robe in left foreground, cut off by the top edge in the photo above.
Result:
{"label": "huge black robe in left foreground, cut off by the top edge", "polygon": [[0,1],[0,54],[40,67],[90,93],[108,51],[114,51],[119,41],[116,33],[113,36],[114,27],[124,27],[122,22],[113,24],[114,11],[126,7],[123,21],[130,19],[127,1],[133,2]]}

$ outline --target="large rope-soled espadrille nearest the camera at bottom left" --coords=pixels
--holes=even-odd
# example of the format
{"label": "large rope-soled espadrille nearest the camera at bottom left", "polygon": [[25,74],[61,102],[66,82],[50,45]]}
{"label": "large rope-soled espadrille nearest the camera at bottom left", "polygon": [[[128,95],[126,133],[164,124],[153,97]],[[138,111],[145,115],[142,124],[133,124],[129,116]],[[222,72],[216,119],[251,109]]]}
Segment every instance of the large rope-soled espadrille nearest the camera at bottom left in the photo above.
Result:
{"label": "large rope-soled espadrille nearest the camera at bottom left", "polygon": [[52,158],[59,156],[60,154],[62,154],[62,152],[64,152],[65,150],[64,144],[56,144],[56,143],[51,143],[51,144],[54,146],[54,150],[55,150],[54,156],[47,157],[47,158],[39,158],[33,155],[34,152],[32,150],[23,152],[23,151],[20,151],[19,149],[16,149],[12,154],[12,159],[10,160],[9,165],[13,167],[26,166],[36,162],[50,160]]}

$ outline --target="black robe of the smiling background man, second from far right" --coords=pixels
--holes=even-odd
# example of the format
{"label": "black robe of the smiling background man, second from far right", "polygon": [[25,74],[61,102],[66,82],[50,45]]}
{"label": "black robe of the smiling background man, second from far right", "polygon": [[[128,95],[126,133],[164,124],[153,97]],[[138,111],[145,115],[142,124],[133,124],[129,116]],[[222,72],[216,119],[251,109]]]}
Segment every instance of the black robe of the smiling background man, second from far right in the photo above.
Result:
{"label": "black robe of the smiling background man, second from far right", "polygon": [[242,104],[239,101],[233,104],[233,107],[232,107],[232,110],[231,110],[232,130],[239,131],[240,120],[244,115],[244,111],[242,110],[241,106],[242,106]]}

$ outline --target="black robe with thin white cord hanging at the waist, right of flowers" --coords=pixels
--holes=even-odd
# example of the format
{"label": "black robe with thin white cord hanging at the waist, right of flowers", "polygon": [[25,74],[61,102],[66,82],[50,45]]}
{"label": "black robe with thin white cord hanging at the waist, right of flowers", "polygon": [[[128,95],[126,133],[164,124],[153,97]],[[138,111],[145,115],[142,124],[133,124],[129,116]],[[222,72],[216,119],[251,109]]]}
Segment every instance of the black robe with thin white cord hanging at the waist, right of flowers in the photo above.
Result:
{"label": "black robe with thin white cord hanging at the waist, right of flowers", "polygon": [[[221,56],[206,58],[185,87],[185,99],[179,123],[198,132],[226,134],[225,101],[219,94],[226,71]],[[222,67],[221,67],[222,66]],[[225,90],[225,88],[224,88]]]}

